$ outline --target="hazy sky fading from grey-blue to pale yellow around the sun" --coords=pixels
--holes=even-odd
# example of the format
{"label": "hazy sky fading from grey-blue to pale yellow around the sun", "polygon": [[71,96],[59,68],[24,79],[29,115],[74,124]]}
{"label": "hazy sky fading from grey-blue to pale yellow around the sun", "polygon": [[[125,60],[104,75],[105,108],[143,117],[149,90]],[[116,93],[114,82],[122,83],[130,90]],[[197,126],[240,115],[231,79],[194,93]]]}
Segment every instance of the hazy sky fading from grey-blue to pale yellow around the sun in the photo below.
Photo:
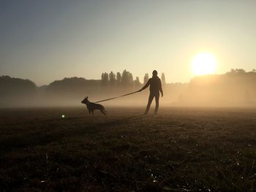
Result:
{"label": "hazy sky fading from grey-blue to pale yellow around the sun", "polygon": [[192,59],[217,74],[256,69],[256,1],[0,0],[0,75],[48,85],[127,69],[189,82]]}

